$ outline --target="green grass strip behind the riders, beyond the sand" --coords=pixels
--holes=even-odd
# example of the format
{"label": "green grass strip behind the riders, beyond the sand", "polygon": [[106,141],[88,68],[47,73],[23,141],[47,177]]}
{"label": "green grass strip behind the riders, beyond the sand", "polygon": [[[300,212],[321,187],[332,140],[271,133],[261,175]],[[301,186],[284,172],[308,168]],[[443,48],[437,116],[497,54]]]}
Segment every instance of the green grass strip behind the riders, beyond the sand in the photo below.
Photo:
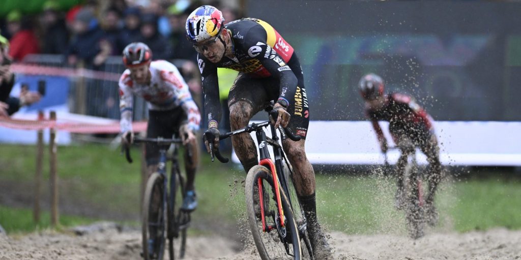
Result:
{"label": "green grass strip behind the riders, beyond the sand", "polygon": [[[34,176],[33,146],[0,146],[0,185],[8,183],[31,187]],[[47,153],[47,150],[45,151]],[[139,150],[132,151],[137,163],[128,164],[103,145],[58,148],[61,224],[77,225],[92,219],[138,223],[140,163]],[[48,165],[47,157],[44,165]],[[202,154],[196,177],[199,209],[192,215],[194,226],[205,230],[237,228],[244,223],[245,174],[238,166],[210,162]],[[521,179],[470,177],[462,181],[444,181],[436,204],[440,212],[437,230],[485,230],[493,227],[521,228]],[[394,181],[367,174],[331,174],[317,172],[317,208],[321,222],[329,229],[346,233],[405,232],[402,212],[394,210]],[[48,197],[48,166],[44,167],[43,199]],[[3,186],[0,186],[3,187]],[[29,191],[32,189],[28,189]],[[11,190],[12,191],[12,190]],[[30,192],[29,192],[30,193]],[[22,193],[23,195],[24,193]],[[9,232],[36,228],[30,210],[32,193],[13,205],[0,207],[0,224]],[[0,197],[1,198],[1,197]],[[70,219],[67,214],[81,217]],[[42,219],[48,219],[43,215]],[[40,223],[39,227],[47,224]]]}

